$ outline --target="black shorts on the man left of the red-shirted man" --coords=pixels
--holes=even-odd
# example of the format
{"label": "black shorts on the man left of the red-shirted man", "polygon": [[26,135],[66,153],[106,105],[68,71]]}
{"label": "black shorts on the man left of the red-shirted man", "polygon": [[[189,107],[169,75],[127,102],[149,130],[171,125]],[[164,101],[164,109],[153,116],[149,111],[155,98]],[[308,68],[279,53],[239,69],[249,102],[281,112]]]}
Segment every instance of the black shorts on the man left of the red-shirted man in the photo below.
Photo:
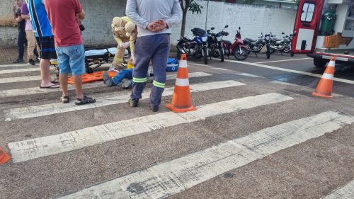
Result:
{"label": "black shorts on the man left of the red-shirted man", "polygon": [[52,37],[35,37],[38,45],[40,45],[41,59],[57,59],[57,52],[55,52],[54,36]]}

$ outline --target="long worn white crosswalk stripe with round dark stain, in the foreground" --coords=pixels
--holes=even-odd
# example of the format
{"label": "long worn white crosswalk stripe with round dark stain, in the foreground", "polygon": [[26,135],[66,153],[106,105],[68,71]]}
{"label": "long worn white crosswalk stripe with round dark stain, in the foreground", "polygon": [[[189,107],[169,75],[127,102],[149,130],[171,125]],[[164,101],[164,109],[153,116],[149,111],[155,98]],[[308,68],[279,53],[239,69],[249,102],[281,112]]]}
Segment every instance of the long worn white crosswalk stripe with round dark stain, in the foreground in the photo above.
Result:
{"label": "long worn white crosswalk stripe with round dark stain, in the foreground", "polygon": [[166,198],[282,149],[354,123],[354,117],[325,112],[269,127],[185,157],[86,188],[66,198]]}

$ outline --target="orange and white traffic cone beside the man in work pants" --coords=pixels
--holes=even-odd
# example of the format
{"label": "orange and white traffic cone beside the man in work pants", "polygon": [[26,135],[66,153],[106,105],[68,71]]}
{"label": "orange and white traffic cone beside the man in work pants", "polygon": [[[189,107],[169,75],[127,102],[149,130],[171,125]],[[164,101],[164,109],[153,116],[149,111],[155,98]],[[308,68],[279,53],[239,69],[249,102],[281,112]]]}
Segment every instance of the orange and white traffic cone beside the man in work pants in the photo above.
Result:
{"label": "orange and white traffic cone beside the man in work pants", "polygon": [[172,103],[166,104],[166,107],[175,113],[197,110],[197,108],[192,105],[192,100],[190,98],[187,57],[185,54],[182,54],[181,61],[179,63]]}

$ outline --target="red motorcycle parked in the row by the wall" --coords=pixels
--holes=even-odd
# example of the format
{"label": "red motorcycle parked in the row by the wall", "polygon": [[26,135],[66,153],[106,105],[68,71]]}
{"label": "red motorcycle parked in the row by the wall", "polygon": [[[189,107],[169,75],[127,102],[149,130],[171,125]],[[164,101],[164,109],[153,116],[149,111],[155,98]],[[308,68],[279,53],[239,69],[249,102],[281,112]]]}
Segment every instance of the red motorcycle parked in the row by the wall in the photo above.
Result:
{"label": "red motorcycle parked in the row by the wall", "polygon": [[244,60],[249,56],[249,51],[244,45],[244,41],[241,40],[241,27],[237,30],[234,43],[228,40],[222,40],[222,45],[224,47],[225,55],[228,57],[229,55],[234,55],[236,59]]}

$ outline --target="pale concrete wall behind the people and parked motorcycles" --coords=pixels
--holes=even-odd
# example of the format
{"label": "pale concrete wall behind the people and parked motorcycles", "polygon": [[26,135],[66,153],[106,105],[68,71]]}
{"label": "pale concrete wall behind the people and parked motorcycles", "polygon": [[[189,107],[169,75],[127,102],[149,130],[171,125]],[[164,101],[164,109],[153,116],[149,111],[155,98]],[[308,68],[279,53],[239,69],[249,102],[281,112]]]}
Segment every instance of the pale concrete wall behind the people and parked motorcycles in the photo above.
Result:
{"label": "pale concrete wall behind the people and parked motorcycles", "polygon": [[[12,21],[11,6],[13,0],[0,0],[0,47],[16,45],[17,28],[4,27]],[[115,40],[110,29],[110,23],[114,16],[125,15],[126,0],[81,0],[86,19],[84,25],[86,30],[82,33],[85,45],[89,46],[114,46]],[[186,36],[191,38],[190,29],[198,27],[205,28],[205,16],[207,1],[198,1],[204,9],[202,13],[188,13]],[[280,36],[282,31],[291,33],[295,21],[295,9],[289,8],[268,8],[267,6],[252,6],[244,4],[228,4],[217,1],[210,1],[208,9],[207,28],[214,26],[221,30],[228,24],[227,31],[230,35],[226,38],[234,40],[236,29],[241,26],[242,38],[257,38],[263,33],[273,32]],[[172,28],[171,43],[176,44],[180,38],[181,25]]]}

